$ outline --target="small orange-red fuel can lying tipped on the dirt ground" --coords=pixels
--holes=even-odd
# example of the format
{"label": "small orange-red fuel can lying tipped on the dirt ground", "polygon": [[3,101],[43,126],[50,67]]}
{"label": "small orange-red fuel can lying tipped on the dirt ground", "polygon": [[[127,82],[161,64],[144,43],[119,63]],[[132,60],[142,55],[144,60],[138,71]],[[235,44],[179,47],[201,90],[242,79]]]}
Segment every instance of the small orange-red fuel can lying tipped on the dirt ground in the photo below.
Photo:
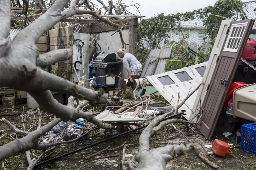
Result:
{"label": "small orange-red fuel can lying tipped on the dirt ground", "polygon": [[233,154],[233,152],[230,150],[229,144],[218,139],[214,140],[211,149],[215,155],[221,157],[225,157],[227,154]]}

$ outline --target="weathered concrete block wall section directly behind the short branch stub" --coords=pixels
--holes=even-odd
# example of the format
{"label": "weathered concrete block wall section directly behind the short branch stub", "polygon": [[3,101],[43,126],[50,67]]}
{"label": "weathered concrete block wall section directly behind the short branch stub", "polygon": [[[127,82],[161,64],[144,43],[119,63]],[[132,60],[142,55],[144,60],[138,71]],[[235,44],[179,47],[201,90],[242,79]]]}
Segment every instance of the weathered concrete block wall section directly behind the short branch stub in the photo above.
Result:
{"label": "weathered concrete block wall section directly behind the short branch stub", "polygon": [[[51,29],[50,35],[50,50],[69,48],[73,50],[73,28],[64,27]],[[51,66],[52,72],[69,81],[74,81],[73,78],[73,56],[70,60],[61,61]]]}

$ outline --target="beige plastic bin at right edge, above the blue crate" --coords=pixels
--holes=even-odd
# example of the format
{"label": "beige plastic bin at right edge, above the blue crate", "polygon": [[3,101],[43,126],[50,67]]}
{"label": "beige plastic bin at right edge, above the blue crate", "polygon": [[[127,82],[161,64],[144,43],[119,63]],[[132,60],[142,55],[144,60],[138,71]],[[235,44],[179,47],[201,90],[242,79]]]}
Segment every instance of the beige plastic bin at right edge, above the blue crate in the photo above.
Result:
{"label": "beige plastic bin at right edge, above the blue crate", "polygon": [[256,83],[234,91],[233,115],[256,122]]}

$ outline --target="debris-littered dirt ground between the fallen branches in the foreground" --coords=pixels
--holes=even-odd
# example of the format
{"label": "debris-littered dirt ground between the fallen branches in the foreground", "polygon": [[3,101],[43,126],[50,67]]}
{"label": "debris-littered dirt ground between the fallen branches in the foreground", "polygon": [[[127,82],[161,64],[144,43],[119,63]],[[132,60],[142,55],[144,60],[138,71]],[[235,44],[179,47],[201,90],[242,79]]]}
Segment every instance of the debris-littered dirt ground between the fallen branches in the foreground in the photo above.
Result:
{"label": "debris-littered dirt ground between the fallen branches in the foreground", "polygon": [[[26,105],[24,105],[25,107],[25,111],[29,110],[26,108]],[[154,103],[152,103],[151,106],[158,106]],[[17,117],[18,115],[6,115],[6,114],[17,114],[17,113],[21,113],[22,112],[22,105],[19,106],[19,109],[3,109],[0,107],[0,115],[1,117],[5,117],[6,119],[8,119],[9,121],[12,121],[16,124],[16,126],[20,126],[21,121],[13,121],[12,118]],[[45,113],[43,113],[45,114]],[[37,115],[33,115],[30,119],[32,120],[33,118],[36,118]],[[42,123],[44,122],[49,122],[50,119],[48,120],[44,120]],[[179,128],[180,130],[185,130],[183,125],[176,125],[177,128]],[[5,124],[0,123],[0,130],[4,130],[4,129],[9,129]],[[197,129],[194,129],[196,131],[196,133],[194,133],[193,131],[190,131],[188,134],[186,134],[185,136],[178,136],[175,139],[166,141],[165,139],[168,136],[173,135],[174,132],[169,131],[167,128],[160,134],[155,135],[152,139],[150,139],[150,147],[151,148],[156,148],[156,147],[161,147],[161,146],[165,146],[167,142],[169,143],[182,143],[182,142],[186,142],[187,144],[192,144],[195,147],[197,147],[199,149],[199,151],[201,153],[206,153],[206,152],[210,152],[211,149],[210,148],[206,148],[203,147],[205,145],[211,145],[214,141],[214,139],[218,138],[220,140],[223,140],[227,143],[235,143],[235,136],[231,135],[228,138],[224,137],[222,134],[217,134],[215,133],[213,135],[213,138],[211,141],[207,141],[200,133],[198,133]],[[94,146],[92,148],[86,149],[86,150],[82,150],[78,153],[69,155],[65,158],[61,158],[58,161],[55,162],[50,162],[48,164],[36,167],[35,169],[39,170],[39,169],[88,169],[88,170],[96,170],[96,169],[104,169],[104,170],[110,170],[110,169],[122,169],[121,168],[121,159],[122,159],[122,155],[123,155],[123,148],[120,148],[118,150],[115,150],[113,152],[105,152],[105,153],[101,153],[100,155],[94,156],[91,159],[95,159],[95,158],[101,158],[101,157],[108,157],[105,159],[98,159],[98,160],[92,160],[87,162],[88,160],[86,160],[86,156],[89,156],[93,153],[96,153],[102,149],[105,148],[115,148],[117,146],[120,146],[121,144],[125,143],[126,144],[134,144],[133,146],[130,147],[126,147],[125,150],[125,160],[126,161],[130,161],[132,163],[132,165],[135,167],[137,165],[137,162],[135,161],[135,155],[138,152],[138,139],[139,136],[141,134],[141,131],[135,132],[135,133],[130,133],[127,134],[125,136],[122,136],[118,139],[115,140],[111,140],[102,144],[99,144],[97,146]],[[11,134],[11,132],[8,132]],[[1,136],[1,135],[0,135]],[[61,145],[59,146],[57,149],[55,149],[55,152],[53,152],[49,158],[54,158],[55,156],[59,156],[62,155],[64,153],[67,152],[71,152],[74,151],[76,149],[82,148],[84,146],[87,146],[89,144],[101,141],[103,139],[106,139],[108,137],[110,137],[109,135],[99,135],[97,131],[94,131],[92,133],[90,133],[91,136],[91,140],[89,141],[80,141],[80,142],[75,142],[75,143],[70,143],[70,144],[66,144],[66,145]],[[3,137],[2,140],[0,140],[0,146],[7,143],[8,141],[10,141],[9,137]],[[33,152],[33,151],[32,151]],[[216,163],[218,166],[221,166],[227,170],[235,170],[235,169],[246,169],[246,170],[256,170],[256,156],[249,154],[245,151],[242,151],[240,148],[238,149],[232,149],[233,154],[228,155],[224,158],[220,158],[216,155],[211,155],[211,156],[207,156],[207,158],[209,160],[211,160],[212,162]],[[35,153],[37,153],[35,151]],[[49,159],[48,158],[48,159]],[[2,162],[1,162],[2,164]],[[0,169],[2,168],[0,164]],[[254,168],[249,168],[249,166],[253,166]],[[8,158],[7,160],[5,160],[5,168],[7,170],[9,169],[14,169],[14,167],[16,167],[16,169],[26,169],[27,167],[27,161],[26,161],[26,157],[24,153],[18,154],[18,155],[14,155],[11,158]],[[3,169],[3,168],[2,168]],[[129,168],[127,168],[129,169]],[[181,155],[178,156],[177,158],[171,160],[170,162],[168,162],[166,169],[177,169],[177,170],[183,170],[183,169],[197,169],[197,170],[205,170],[205,169],[210,169],[208,168],[204,163],[202,163],[195,155],[193,154],[187,154],[187,155]]]}

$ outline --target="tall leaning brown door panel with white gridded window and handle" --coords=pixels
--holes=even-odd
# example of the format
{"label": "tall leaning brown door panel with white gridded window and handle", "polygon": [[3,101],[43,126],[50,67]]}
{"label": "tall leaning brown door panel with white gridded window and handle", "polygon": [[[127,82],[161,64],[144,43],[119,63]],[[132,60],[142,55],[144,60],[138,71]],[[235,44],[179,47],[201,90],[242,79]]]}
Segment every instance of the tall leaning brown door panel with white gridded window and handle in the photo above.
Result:
{"label": "tall leaning brown door panel with white gridded window and handle", "polygon": [[[243,49],[245,48],[254,20],[232,21],[224,47],[217,59],[210,86],[202,103],[202,119],[197,125],[201,133],[210,140],[222,110],[226,94],[234,78]],[[229,79],[227,81],[221,80]],[[226,86],[225,86],[226,84]]]}

